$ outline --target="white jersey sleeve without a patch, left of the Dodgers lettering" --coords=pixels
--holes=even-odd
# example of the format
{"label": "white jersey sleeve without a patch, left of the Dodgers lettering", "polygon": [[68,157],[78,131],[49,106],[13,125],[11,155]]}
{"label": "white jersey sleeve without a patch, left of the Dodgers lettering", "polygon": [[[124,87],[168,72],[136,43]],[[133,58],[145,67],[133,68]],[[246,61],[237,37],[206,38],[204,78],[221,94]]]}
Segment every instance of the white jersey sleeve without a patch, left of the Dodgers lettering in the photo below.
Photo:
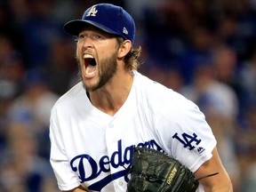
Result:
{"label": "white jersey sleeve without a patch, left of the Dodgers lettering", "polygon": [[59,119],[54,108],[50,119],[50,162],[60,190],[70,190],[80,185],[75,172],[70,168],[65,151],[65,140],[61,137]]}

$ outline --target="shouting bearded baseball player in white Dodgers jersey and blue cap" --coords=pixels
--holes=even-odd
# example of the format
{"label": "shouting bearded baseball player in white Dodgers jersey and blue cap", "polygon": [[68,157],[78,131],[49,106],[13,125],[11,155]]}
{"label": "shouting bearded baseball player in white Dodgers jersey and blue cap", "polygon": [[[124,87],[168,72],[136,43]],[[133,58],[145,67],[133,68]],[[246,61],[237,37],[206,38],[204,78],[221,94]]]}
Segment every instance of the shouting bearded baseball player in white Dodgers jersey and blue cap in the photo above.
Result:
{"label": "shouting bearded baseball player in white Dodgers jersey and blue cap", "polygon": [[61,191],[126,191],[134,146],[164,151],[200,180],[232,191],[212,130],[196,105],[141,75],[131,15],[95,4],[65,31],[76,36],[81,82],[52,108],[51,164]]}

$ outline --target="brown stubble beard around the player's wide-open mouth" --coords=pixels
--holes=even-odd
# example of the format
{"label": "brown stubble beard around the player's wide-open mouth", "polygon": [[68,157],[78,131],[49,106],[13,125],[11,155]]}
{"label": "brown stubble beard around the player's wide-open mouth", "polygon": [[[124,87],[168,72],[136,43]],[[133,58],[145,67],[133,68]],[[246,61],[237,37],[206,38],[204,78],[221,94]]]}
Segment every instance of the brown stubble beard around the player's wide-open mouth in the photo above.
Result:
{"label": "brown stubble beard around the player's wide-open mouth", "polygon": [[[84,84],[84,81],[86,80],[83,79],[80,60],[77,59],[77,57],[76,57],[76,60],[79,68],[78,76],[80,76],[80,79]],[[99,65],[99,63],[97,65]],[[116,74],[116,69],[117,69],[116,53],[104,60],[101,60],[100,66],[99,66],[99,77],[98,77],[99,79],[96,84],[92,84],[92,85],[84,84],[84,88],[86,92],[94,92],[96,90],[99,90],[105,84],[108,84],[109,80]]]}

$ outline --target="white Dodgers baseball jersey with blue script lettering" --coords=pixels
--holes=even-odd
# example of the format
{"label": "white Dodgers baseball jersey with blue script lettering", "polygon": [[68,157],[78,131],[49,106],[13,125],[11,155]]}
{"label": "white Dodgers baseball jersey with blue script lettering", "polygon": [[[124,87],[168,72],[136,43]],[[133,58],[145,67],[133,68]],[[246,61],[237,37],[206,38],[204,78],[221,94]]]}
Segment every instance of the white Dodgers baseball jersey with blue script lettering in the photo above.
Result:
{"label": "white Dodgers baseball jersey with blue script lettering", "polygon": [[115,116],[92,106],[83,83],[52,108],[51,164],[60,190],[82,184],[90,191],[125,192],[134,145],[164,151],[192,172],[212,157],[216,140],[196,105],[133,74],[132,90]]}

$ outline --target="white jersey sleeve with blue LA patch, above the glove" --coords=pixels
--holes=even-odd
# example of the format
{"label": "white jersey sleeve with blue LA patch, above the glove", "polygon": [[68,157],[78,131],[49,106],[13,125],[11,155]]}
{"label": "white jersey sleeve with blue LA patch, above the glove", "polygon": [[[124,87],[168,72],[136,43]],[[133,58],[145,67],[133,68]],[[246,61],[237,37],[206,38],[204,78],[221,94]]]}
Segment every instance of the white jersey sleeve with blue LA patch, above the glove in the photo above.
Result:
{"label": "white jersey sleeve with blue LA patch, above the glove", "polygon": [[170,105],[156,115],[156,130],[168,154],[188,166],[192,172],[212,157],[217,141],[204,114],[178,93]]}

